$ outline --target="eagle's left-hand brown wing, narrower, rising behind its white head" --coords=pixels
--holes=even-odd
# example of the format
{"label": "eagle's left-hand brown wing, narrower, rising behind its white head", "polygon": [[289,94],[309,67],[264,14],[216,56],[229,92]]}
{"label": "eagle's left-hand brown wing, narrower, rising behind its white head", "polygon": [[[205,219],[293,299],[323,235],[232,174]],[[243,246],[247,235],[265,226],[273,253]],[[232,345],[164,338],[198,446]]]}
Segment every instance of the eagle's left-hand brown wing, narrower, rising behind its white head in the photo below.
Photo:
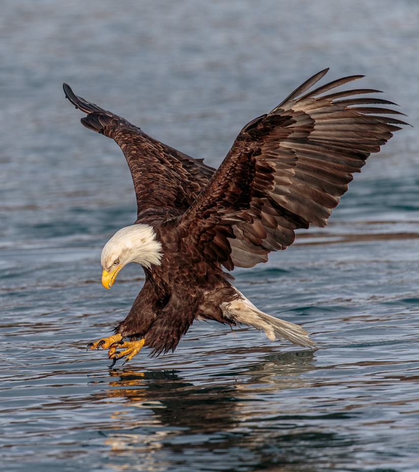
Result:
{"label": "eagle's left-hand brown wing, narrower, rising behind its white head", "polygon": [[76,108],[87,113],[81,123],[113,138],[124,153],[135,188],[137,220],[183,214],[214,173],[199,159],[193,159],[147,136],[125,119],[74,95],[66,83],[64,93]]}

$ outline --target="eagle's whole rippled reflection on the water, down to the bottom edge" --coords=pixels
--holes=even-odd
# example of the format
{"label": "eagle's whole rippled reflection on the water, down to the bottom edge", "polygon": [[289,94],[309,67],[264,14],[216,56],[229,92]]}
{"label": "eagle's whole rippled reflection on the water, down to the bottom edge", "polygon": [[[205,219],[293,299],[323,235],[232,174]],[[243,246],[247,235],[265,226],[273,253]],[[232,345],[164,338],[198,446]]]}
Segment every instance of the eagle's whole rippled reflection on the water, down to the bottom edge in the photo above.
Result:
{"label": "eagle's whole rippled reflection on the water, down to the bottom edge", "polygon": [[211,470],[241,470],[239,464],[281,470],[288,464],[290,470],[293,464],[292,470],[300,470],[306,454],[299,450],[304,444],[299,395],[291,395],[291,411],[289,392],[287,407],[278,411],[278,404],[284,391],[309,387],[305,374],[315,368],[315,351],[301,350],[265,355],[258,363],[218,371],[203,381],[187,371],[183,377],[175,370],[113,371],[115,379],[105,393],[126,401],[118,403],[113,416],[120,419],[119,428],[103,431],[109,465],[207,470],[207,462]]}

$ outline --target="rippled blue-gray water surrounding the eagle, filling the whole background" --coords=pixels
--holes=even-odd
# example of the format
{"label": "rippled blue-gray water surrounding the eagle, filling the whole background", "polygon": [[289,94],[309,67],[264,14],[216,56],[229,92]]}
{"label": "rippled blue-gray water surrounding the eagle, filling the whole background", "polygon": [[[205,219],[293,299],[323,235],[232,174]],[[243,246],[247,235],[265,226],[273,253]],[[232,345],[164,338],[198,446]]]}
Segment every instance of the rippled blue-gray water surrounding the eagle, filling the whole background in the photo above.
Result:
{"label": "rippled blue-gray water surrounding the eagle, filling the whole background", "polygon": [[[419,470],[419,3],[3,0],[1,463],[31,471]],[[143,283],[100,284],[135,219],[118,146],[62,83],[218,165],[303,80],[366,74],[415,128],[355,175],[324,229],[235,271],[319,350],[195,323],[173,355],[86,352]]]}

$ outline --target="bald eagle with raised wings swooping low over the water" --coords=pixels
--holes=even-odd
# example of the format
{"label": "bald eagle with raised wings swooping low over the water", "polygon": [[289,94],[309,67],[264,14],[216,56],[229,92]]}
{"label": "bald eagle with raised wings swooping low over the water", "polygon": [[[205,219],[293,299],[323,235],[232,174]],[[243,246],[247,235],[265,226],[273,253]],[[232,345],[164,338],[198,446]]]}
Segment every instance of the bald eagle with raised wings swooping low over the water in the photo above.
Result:
{"label": "bald eagle with raised wings swooping low over the water", "polygon": [[88,348],[109,349],[112,366],[131,360],[143,346],[151,355],[174,351],[195,319],[242,323],[272,341],[315,347],[300,326],[247,300],[221,266],[253,267],[266,262],[269,252],[290,246],[296,229],[324,227],[353,172],[406,124],[382,115],[402,113],[371,106],[393,102],[353,98],[377,90],[324,95],[361,75],[307,92],[327,71],[248,123],[217,170],[77,97],[64,84],[66,97],[87,113],[82,125],[119,144],[135,188],[137,220],[104,246],[102,284],[110,288],[130,262],[141,264],[146,274],[115,334]]}

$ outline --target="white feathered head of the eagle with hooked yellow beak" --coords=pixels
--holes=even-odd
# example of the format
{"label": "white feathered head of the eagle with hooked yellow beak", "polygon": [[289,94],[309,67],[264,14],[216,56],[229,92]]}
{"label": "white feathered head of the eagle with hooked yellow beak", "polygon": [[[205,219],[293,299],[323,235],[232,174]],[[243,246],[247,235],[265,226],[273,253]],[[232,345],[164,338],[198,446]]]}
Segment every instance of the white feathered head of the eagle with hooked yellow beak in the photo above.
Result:
{"label": "white feathered head of the eagle with hooked yellow beak", "polygon": [[102,284],[110,288],[118,272],[130,262],[149,269],[152,264],[160,265],[161,256],[161,243],[156,241],[156,233],[151,226],[134,224],[122,228],[102,250]]}

